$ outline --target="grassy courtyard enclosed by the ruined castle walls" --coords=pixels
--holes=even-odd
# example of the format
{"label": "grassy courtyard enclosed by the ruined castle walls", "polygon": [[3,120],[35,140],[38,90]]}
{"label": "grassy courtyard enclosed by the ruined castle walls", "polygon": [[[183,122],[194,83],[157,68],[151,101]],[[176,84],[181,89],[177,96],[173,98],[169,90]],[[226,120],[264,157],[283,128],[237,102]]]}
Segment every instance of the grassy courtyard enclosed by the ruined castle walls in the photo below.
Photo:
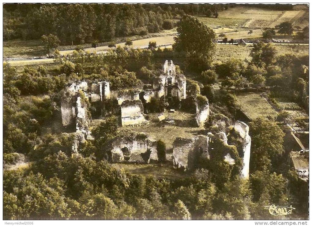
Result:
{"label": "grassy courtyard enclosed by the ruined castle walls", "polygon": [[163,140],[167,149],[173,148],[173,141],[177,137],[189,138],[202,131],[203,128],[194,127],[190,121],[194,115],[182,111],[165,112],[166,120],[174,120],[174,124],[158,122],[158,113],[149,114],[150,124],[147,126],[119,127],[119,131],[145,132],[155,140]]}

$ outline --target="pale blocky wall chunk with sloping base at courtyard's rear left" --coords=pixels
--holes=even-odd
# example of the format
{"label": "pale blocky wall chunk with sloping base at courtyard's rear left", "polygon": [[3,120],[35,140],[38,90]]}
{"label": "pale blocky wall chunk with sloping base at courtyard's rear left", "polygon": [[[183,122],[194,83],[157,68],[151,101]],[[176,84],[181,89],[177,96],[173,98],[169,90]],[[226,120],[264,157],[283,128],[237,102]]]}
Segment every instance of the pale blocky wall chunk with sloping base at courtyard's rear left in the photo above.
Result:
{"label": "pale blocky wall chunk with sloping base at courtyard's rear left", "polygon": [[121,125],[135,125],[148,122],[143,113],[141,100],[125,100],[121,104]]}

